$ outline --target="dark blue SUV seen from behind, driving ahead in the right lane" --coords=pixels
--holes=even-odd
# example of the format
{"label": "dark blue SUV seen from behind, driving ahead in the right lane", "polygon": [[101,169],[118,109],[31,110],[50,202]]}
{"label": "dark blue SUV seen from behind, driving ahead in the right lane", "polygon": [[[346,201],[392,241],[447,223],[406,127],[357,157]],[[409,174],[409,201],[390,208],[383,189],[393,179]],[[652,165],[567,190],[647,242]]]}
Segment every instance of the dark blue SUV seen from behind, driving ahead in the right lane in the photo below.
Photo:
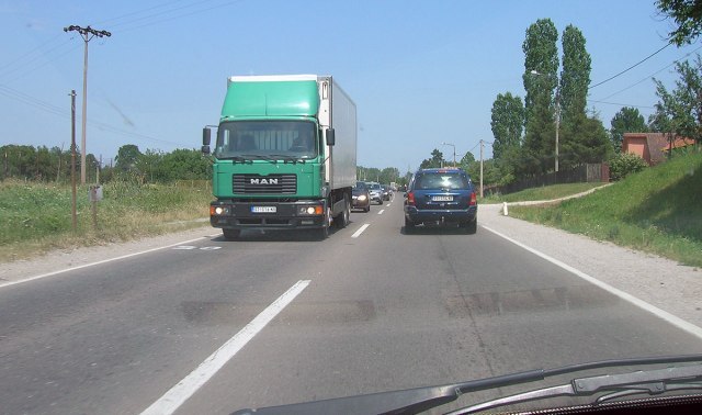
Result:
{"label": "dark blue SUV seen from behind, driving ahead in the right lane", "polygon": [[405,199],[405,233],[420,224],[457,224],[467,234],[475,234],[478,204],[475,187],[462,169],[421,169],[407,187]]}

